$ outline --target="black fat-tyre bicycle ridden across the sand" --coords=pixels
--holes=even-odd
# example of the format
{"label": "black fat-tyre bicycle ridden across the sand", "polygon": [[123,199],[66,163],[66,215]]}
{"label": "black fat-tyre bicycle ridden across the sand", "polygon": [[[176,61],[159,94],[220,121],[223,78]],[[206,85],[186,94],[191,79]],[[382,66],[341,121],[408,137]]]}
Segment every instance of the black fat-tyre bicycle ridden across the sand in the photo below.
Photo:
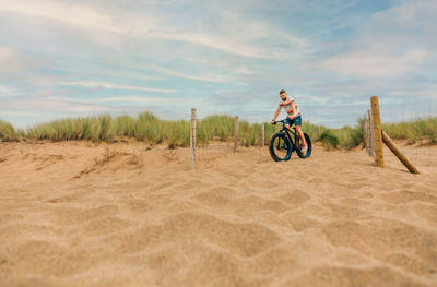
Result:
{"label": "black fat-tyre bicycle ridden across the sand", "polygon": [[[308,144],[308,150],[304,154],[300,150],[300,136],[296,132],[296,127],[293,128],[294,131],[285,127],[285,120],[274,121],[273,124],[277,122],[282,123],[282,129],[272,135],[270,140],[270,155],[275,162],[286,162],[292,156],[292,153],[296,151],[300,158],[308,158],[311,155],[312,145],[311,139],[307,133],[304,132],[305,140]],[[294,141],[290,134],[294,135]]]}

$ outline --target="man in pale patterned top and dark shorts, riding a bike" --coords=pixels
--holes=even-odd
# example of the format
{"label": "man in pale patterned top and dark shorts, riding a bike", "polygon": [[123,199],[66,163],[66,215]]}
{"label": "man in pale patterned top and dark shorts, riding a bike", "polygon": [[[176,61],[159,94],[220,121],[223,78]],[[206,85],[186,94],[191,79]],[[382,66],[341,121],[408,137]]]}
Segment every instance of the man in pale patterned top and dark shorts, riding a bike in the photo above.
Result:
{"label": "man in pale patterned top and dark shorts, riding a bike", "polygon": [[276,113],[274,113],[271,124],[273,124],[276,120],[277,116],[281,112],[281,109],[284,109],[287,113],[287,118],[285,119],[285,127],[290,129],[293,123],[296,124],[297,134],[299,135],[303,143],[300,150],[303,153],[306,153],[308,150],[308,144],[307,141],[305,141],[304,132],[302,131],[302,113],[297,109],[296,100],[293,97],[288,97],[284,89],[280,91],[280,97],[282,101],[280,101]]}

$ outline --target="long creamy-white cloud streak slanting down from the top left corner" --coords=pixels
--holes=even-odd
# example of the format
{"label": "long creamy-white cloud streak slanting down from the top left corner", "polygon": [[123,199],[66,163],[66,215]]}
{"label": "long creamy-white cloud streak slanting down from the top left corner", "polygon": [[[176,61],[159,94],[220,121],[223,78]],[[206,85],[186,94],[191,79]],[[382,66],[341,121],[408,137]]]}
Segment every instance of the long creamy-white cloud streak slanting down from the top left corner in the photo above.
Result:
{"label": "long creamy-white cloud streak slanting down from the top left corner", "polygon": [[[257,43],[260,39],[284,38],[287,46],[303,48],[309,47],[305,39],[277,28],[271,27],[267,22],[260,20],[247,20],[234,17],[229,26],[228,23],[215,27],[215,29],[205,29],[201,25],[193,26],[189,22],[178,22],[175,14],[160,10],[156,3],[149,3],[146,10],[127,11],[118,9],[117,11],[107,9],[105,4],[82,4],[59,1],[33,1],[23,0],[19,2],[0,3],[0,12],[16,13],[25,16],[34,16],[46,21],[55,21],[66,25],[82,28],[90,33],[91,31],[104,31],[123,35],[127,39],[160,39],[165,41],[181,41],[199,45],[215,49],[222,52],[260,59],[282,59],[288,57],[288,47],[277,47]],[[110,3],[109,3],[110,5]],[[246,3],[246,5],[250,5]],[[192,9],[192,7],[191,7]],[[225,14],[221,14],[223,16]],[[176,20],[175,20],[176,19]],[[235,27],[239,27],[235,31]],[[98,33],[93,33],[93,38]],[[105,39],[106,38],[106,39]],[[98,35],[96,40],[104,44],[113,41],[118,46],[121,39],[109,39],[110,36]],[[125,39],[126,40],[126,39]],[[283,44],[284,44],[283,43]],[[300,49],[304,51],[304,49]]]}

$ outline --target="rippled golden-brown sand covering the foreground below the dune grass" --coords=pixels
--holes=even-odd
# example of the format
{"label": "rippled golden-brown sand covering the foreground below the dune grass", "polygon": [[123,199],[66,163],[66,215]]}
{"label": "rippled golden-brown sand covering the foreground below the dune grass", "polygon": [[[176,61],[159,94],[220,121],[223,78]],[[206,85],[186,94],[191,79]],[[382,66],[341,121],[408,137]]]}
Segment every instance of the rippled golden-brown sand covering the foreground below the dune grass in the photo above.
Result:
{"label": "rippled golden-brown sand covering the foreground below the dune grass", "polygon": [[[0,143],[0,286],[437,286],[437,147],[188,170],[144,143]],[[417,153],[418,151],[418,153]]]}

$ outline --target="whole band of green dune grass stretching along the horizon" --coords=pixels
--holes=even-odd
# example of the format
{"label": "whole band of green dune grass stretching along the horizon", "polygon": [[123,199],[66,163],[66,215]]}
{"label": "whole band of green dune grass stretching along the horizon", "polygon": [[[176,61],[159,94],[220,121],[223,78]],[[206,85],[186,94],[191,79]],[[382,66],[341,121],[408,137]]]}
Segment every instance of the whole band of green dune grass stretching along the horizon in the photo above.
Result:
{"label": "whole band of green dune grass stretching along the horizon", "polygon": [[[245,146],[260,146],[261,127],[264,124],[265,144],[279,131],[280,124],[249,123],[239,121],[239,142]],[[350,150],[358,146],[363,140],[364,118],[357,119],[355,127],[329,129],[323,125],[304,121],[303,130],[312,142],[320,141],[330,148]],[[437,143],[437,117],[416,119],[410,122],[383,123],[382,129],[394,140],[411,142],[428,141]],[[0,140],[49,140],[115,142],[137,139],[150,144],[167,144],[168,147],[189,146],[190,122],[188,120],[161,120],[150,112],[137,117],[128,115],[113,117],[109,115],[68,118],[36,124],[25,131],[16,131],[12,124],[0,120]],[[229,142],[234,139],[234,118],[226,115],[212,115],[197,122],[197,144],[208,145],[211,141]]]}

